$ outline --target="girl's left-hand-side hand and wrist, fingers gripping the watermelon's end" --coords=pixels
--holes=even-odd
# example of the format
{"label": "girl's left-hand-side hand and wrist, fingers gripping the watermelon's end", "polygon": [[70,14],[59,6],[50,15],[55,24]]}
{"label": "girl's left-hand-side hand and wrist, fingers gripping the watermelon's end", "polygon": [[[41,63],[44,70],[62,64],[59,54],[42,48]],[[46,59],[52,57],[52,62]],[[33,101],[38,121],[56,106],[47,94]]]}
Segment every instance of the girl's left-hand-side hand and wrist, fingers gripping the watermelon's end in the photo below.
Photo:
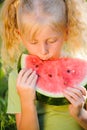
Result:
{"label": "girl's left-hand-side hand and wrist, fingers gripping the watermelon's end", "polygon": [[21,99],[34,100],[37,74],[32,69],[22,69],[18,74],[17,91]]}

